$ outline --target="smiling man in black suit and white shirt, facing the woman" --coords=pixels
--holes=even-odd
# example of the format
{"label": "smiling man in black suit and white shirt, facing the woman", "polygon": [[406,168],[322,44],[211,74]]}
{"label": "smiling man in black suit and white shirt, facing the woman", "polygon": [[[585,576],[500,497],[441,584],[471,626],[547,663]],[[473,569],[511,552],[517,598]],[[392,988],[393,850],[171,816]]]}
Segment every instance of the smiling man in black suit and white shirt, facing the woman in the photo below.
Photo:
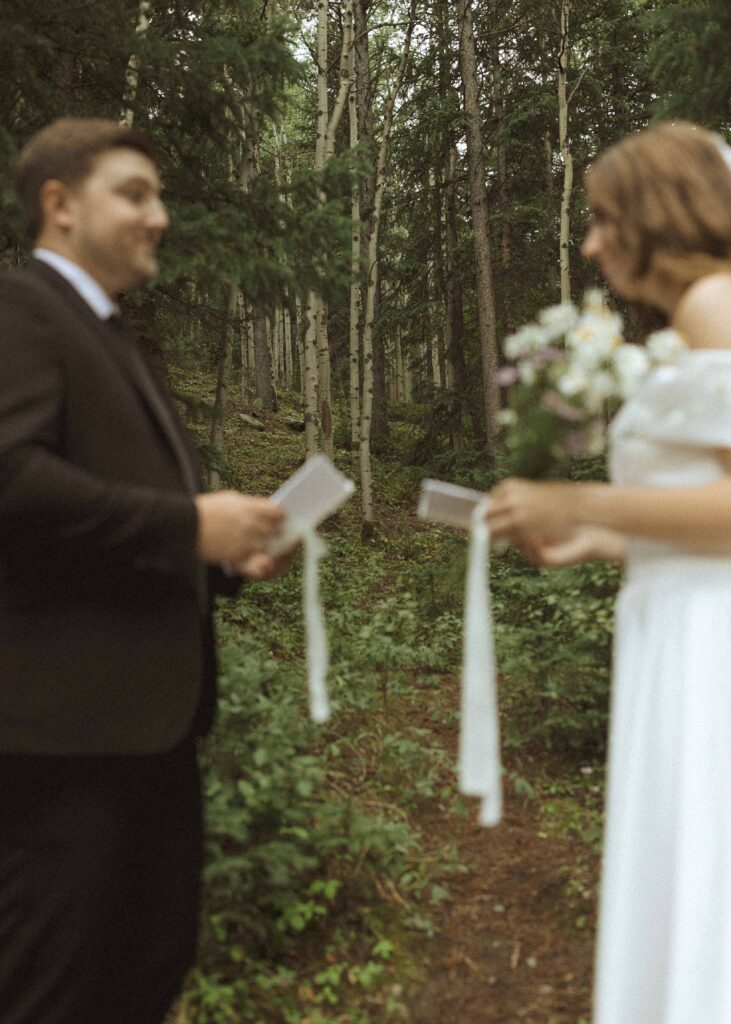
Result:
{"label": "smiling man in black suit and white shirt, facing the woman", "polygon": [[144,136],[54,122],[17,186],[36,248],[0,278],[0,1021],[160,1024],[196,941],[211,599],[284,567],[282,511],[201,493],[119,324],[168,224]]}

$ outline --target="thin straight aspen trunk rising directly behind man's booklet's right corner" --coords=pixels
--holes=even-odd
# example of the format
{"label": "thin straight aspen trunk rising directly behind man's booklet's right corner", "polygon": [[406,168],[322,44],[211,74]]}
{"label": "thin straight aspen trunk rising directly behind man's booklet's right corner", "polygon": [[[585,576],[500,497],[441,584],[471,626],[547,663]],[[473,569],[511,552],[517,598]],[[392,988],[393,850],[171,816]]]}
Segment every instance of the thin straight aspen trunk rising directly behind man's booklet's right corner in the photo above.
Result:
{"label": "thin straight aspen trunk rising directly behind man's booklet's right corner", "polygon": [[[355,79],[355,47],[349,54],[350,92],[348,93],[348,119],[350,123],[350,148],[358,144],[358,91]],[[350,470],[357,480],[360,476],[360,184],[355,181],[350,200],[350,336],[349,336],[349,398],[350,398]]]}

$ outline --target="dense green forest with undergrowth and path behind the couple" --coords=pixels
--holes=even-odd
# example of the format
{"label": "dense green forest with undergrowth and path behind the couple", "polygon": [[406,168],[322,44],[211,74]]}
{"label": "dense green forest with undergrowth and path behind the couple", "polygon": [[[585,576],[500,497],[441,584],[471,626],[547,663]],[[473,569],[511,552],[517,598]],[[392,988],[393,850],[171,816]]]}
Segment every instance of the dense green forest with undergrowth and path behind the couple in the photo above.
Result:
{"label": "dense green forest with undergrowth and path behind the couple", "polygon": [[[0,258],[24,142],[155,142],[171,227],[125,300],[211,488],[316,452],[333,716],[299,563],[218,610],[196,970],[170,1024],[588,1024],[618,572],[491,557],[505,821],[457,792],[464,534],[420,482],[509,469],[507,336],[601,285],[583,177],[658,119],[731,131],[727,0],[0,0]],[[638,339],[646,325],[610,304]],[[604,477],[576,457],[573,479]]]}

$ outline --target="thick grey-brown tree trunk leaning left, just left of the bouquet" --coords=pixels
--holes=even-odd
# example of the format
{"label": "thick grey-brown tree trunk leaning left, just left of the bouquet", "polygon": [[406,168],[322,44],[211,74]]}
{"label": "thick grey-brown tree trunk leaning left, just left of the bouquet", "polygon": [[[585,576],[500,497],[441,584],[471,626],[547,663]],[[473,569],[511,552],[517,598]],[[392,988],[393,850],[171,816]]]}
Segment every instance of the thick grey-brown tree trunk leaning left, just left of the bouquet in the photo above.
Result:
{"label": "thick grey-brown tree trunk leaning left, just left of the bouquet", "polygon": [[472,0],[458,0],[460,27],[460,65],[465,90],[467,157],[470,179],[470,205],[477,270],[477,315],[482,356],[483,408],[485,434],[490,452],[500,432],[498,412],[500,393],[496,383],[498,372],[498,330],[494,306],[494,283],[490,252],[489,217],[485,168],[482,157],[482,123],[480,120],[477,55],[472,27]]}

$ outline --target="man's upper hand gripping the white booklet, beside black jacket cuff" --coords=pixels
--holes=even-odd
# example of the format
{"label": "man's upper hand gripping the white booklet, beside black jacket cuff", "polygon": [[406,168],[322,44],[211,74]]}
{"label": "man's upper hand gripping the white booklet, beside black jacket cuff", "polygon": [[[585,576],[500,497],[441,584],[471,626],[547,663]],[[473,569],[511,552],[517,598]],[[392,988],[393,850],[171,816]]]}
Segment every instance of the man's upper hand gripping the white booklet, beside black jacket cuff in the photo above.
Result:
{"label": "man's upper hand gripping the white booklet, beside black jacket cuff", "polygon": [[197,495],[196,510],[201,561],[213,565],[229,562],[236,570],[252,557],[269,558],[266,545],[278,536],[285,518],[284,511],[268,498],[238,490]]}

